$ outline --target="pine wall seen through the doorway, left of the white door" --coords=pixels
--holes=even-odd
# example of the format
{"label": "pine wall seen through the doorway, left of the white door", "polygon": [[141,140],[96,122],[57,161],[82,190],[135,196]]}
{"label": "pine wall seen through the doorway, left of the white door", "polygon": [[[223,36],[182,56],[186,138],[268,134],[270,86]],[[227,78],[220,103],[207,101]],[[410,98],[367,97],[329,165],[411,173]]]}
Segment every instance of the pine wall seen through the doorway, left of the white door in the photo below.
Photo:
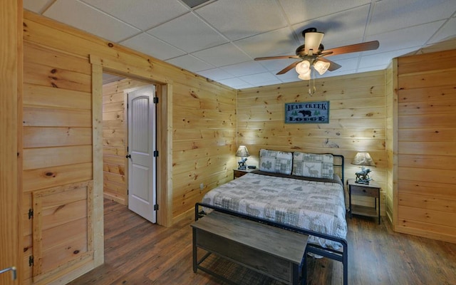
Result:
{"label": "pine wall seen through the doorway, left of the white door", "polygon": [[103,195],[128,204],[128,132],[124,90],[148,83],[123,79],[103,85]]}

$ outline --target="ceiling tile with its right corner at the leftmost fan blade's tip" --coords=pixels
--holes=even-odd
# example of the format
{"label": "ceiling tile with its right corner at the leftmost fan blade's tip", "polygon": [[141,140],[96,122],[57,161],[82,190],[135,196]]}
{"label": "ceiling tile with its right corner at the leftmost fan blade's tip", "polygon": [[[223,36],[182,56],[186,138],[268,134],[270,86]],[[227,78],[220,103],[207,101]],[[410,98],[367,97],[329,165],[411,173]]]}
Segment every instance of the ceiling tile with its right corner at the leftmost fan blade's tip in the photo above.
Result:
{"label": "ceiling tile with its right corner at the leftmost fan blade's tip", "polygon": [[201,58],[203,61],[211,63],[217,67],[228,66],[230,64],[249,61],[252,59],[232,43],[226,43],[221,46],[207,48],[203,51],[192,53],[192,55],[197,56],[197,58]]}

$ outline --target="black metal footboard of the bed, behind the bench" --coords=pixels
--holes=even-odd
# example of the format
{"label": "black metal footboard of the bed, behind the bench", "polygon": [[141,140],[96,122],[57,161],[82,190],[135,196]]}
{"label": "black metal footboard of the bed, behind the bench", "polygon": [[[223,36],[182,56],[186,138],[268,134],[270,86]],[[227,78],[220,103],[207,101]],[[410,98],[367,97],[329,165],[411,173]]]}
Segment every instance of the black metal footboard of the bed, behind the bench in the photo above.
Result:
{"label": "black metal footboard of the bed, behind the bench", "polygon": [[202,208],[216,210],[218,212],[222,212],[222,213],[225,213],[225,214],[231,214],[233,216],[242,217],[243,219],[249,219],[249,220],[252,220],[254,222],[261,222],[261,223],[264,223],[264,224],[269,224],[269,225],[271,225],[273,227],[279,227],[281,229],[287,229],[289,231],[298,232],[300,234],[306,234],[306,235],[310,235],[310,236],[321,237],[323,239],[329,239],[331,241],[338,242],[339,244],[341,244],[341,250],[323,248],[323,247],[321,247],[321,246],[319,246],[317,244],[309,244],[309,243],[307,244],[306,251],[305,251],[304,257],[303,257],[304,264],[303,264],[303,268],[302,268],[302,279],[303,279],[303,281],[306,281],[307,266],[306,266],[305,257],[306,257],[306,254],[309,252],[309,253],[312,253],[312,254],[317,254],[317,255],[320,255],[322,257],[327,257],[329,259],[333,259],[333,260],[342,262],[342,265],[343,265],[343,285],[348,285],[348,243],[347,243],[346,239],[342,239],[340,237],[333,237],[333,236],[328,235],[328,234],[321,234],[319,232],[314,232],[314,231],[311,231],[309,229],[300,229],[300,228],[297,228],[297,227],[290,227],[290,226],[287,226],[285,224],[279,224],[279,223],[276,223],[276,222],[271,222],[271,221],[266,220],[266,219],[261,219],[261,218],[258,218],[258,217],[252,217],[252,216],[249,216],[249,215],[246,215],[246,214],[240,214],[238,212],[234,212],[234,211],[231,211],[229,209],[223,209],[221,207],[216,207],[216,206],[212,206],[210,204],[204,204],[204,203],[196,203],[195,204],[195,221],[197,221],[199,219],[199,217],[202,217],[204,215],[204,212],[202,212]]}

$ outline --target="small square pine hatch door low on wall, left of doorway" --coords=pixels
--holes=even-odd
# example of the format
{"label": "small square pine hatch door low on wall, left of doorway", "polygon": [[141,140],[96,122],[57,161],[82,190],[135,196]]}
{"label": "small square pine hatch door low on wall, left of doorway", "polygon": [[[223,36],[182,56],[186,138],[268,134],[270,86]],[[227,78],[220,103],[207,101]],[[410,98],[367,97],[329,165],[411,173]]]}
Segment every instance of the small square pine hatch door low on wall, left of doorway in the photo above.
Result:
{"label": "small square pine hatch door low on wall, left of doorway", "polygon": [[33,283],[93,259],[92,181],[32,193]]}

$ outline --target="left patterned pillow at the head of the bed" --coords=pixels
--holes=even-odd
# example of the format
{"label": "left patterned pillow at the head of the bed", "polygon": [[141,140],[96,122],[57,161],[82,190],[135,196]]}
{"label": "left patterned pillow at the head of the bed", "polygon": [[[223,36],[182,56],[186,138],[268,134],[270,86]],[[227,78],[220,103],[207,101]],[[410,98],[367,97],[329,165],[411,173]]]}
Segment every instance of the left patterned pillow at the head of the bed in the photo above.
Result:
{"label": "left patterned pillow at the head of the bed", "polygon": [[293,154],[276,150],[259,150],[259,170],[291,174]]}

